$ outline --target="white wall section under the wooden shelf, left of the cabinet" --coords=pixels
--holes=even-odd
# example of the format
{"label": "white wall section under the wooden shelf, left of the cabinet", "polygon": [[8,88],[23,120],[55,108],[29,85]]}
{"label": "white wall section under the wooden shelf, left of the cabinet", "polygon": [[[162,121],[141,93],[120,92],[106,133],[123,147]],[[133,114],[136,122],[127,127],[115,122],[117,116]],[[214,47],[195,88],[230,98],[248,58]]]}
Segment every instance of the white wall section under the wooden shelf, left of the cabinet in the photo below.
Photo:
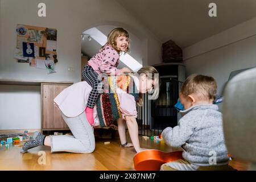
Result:
{"label": "white wall section under the wooden shelf, left of the cabinet", "polygon": [[0,85],[0,129],[40,129],[40,86]]}

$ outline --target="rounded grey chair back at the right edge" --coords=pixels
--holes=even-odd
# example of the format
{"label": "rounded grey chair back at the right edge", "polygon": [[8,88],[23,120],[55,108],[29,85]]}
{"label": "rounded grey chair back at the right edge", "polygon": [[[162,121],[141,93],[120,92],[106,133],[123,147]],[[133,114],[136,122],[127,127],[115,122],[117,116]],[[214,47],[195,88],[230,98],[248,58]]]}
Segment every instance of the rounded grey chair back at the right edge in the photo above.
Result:
{"label": "rounded grey chair back at the right edge", "polygon": [[234,158],[256,170],[256,68],[232,77],[224,89],[224,136]]}

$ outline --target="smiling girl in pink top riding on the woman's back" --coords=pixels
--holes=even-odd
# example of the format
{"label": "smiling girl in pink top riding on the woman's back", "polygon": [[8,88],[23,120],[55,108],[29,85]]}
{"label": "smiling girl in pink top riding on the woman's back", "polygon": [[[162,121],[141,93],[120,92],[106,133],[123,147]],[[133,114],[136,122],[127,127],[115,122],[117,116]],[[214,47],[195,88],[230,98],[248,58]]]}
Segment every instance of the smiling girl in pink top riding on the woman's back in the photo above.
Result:
{"label": "smiling girl in pink top riding on the woman's back", "polygon": [[130,73],[129,68],[117,69],[121,52],[128,52],[129,34],[123,28],[114,28],[108,35],[108,42],[101,47],[100,51],[88,61],[82,71],[84,80],[92,86],[89,94],[85,113],[86,119],[90,125],[94,124],[93,107],[96,104],[98,96],[103,92],[104,84],[101,80],[101,74],[120,75],[121,73]]}

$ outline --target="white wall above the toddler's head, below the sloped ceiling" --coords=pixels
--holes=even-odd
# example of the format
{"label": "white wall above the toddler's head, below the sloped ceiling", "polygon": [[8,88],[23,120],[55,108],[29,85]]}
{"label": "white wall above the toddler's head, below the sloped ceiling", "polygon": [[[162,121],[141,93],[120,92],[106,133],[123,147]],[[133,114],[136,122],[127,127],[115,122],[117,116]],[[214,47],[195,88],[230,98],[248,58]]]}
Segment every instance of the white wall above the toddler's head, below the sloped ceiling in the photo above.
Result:
{"label": "white wall above the toddler's head, below the sloped ceiling", "polygon": [[232,71],[256,67],[256,18],[183,49],[186,75],[213,76],[218,94]]}

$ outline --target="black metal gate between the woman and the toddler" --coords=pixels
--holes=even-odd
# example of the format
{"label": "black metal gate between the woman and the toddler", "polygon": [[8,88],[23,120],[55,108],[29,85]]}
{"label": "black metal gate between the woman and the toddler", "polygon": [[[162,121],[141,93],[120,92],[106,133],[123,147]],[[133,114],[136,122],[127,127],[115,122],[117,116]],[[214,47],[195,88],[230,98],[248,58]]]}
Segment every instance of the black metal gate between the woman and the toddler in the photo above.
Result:
{"label": "black metal gate between the woman and the toddler", "polygon": [[138,107],[139,135],[156,136],[168,127],[177,125],[177,110],[174,105],[179,98],[183,82],[171,77],[161,78],[159,97],[157,100],[148,100],[143,95],[143,106]]}

